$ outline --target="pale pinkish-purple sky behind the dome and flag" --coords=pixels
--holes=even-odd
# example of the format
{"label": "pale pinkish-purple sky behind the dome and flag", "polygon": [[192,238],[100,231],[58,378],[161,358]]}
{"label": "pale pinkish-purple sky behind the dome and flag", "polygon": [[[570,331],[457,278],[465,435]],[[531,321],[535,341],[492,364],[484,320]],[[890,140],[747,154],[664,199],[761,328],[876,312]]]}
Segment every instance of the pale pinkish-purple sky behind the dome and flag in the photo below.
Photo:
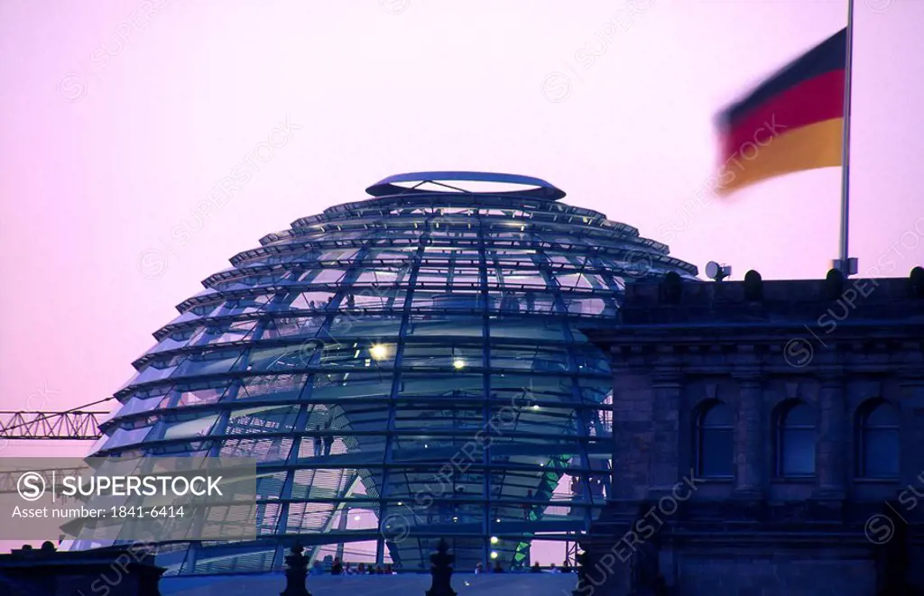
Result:
{"label": "pale pinkish-purple sky behind the dome and flag", "polygon": [[[0,0],[0,410],[111,396],[230,256],[391,173],[534,175],[700,269],[823,276],[838,169],[730,201],[704,185],[713,115],[844,27],[846,0],[631,6]],[[924,262],[922,29],[922,0],[856,0],[861,273]]]}

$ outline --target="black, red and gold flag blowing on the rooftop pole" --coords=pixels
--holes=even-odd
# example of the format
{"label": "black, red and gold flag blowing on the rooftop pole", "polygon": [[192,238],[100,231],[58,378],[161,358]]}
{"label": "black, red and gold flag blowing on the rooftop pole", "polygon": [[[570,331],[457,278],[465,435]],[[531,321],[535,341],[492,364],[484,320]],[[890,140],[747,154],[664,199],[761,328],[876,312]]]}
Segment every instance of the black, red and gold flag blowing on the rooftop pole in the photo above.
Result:
{"label": "black, red and gold flag blowing on the rooftop pole", "polygon": [[841,165],[847,30],[768,78],[719,115],[717,192]]}

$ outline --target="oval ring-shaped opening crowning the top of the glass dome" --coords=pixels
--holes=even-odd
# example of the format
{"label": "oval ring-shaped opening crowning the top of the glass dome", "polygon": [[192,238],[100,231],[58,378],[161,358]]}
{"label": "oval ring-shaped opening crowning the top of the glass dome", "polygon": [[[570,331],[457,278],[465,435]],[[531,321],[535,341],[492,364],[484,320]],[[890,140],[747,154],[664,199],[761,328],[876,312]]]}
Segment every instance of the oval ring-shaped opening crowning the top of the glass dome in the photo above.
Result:
{"label": "oval ring-shaped opening crowning the top of the glass dome", "polygon": [[540,178],[511,173],[417,172],[390,176],[371,185],[373,197],[407,194],[490,194],[558,200],[565,192]]}

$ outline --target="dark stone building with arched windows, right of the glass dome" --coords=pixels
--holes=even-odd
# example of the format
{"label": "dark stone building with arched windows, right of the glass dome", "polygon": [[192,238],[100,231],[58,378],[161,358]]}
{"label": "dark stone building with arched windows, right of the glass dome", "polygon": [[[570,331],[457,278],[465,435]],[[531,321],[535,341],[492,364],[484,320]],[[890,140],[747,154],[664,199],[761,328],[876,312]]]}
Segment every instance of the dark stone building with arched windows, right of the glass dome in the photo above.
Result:
{"label": "dark stone building with arched windows, right of the glass dome", "polygon": [[924,269],[627,289],[576,594],[924,594]]}

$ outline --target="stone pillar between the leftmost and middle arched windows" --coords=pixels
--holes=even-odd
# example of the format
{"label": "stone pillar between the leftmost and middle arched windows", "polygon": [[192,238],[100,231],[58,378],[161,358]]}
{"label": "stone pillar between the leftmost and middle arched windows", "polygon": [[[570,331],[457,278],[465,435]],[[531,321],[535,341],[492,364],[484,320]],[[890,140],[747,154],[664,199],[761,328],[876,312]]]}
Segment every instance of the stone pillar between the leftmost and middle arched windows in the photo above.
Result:
{"label": "stone pillar between the leftmost and middle arched windows", "polygon": [[739,373],[735,420],[735,495],[760,501],[767,478],[767,436],[760,374]]}

